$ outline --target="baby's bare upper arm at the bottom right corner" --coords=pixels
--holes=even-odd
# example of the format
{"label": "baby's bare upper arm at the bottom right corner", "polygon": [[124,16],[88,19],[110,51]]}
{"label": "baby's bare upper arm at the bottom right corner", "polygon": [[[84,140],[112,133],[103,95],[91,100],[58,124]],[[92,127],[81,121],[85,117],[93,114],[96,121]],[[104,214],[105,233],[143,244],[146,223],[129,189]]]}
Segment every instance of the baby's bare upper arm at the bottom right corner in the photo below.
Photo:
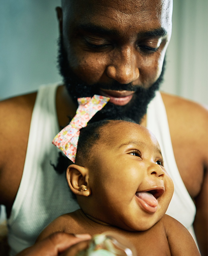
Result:
{"label": "baby's bare upper arm at the bottom right corner", "polygon": [[179,221],[165,215],[164,225],[171,256],[200,256],[193,237]]}

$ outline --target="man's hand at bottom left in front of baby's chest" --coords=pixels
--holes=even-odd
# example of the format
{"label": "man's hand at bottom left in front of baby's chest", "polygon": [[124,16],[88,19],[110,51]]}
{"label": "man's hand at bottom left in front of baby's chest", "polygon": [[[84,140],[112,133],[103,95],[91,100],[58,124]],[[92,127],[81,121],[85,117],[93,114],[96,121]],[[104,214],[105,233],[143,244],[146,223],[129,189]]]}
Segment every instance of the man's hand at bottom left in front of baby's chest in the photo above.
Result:
{"label": "man's hand at bottom left in front of baby's chest", "polygon": [[86,249],[91,236],[88,234],[73,235],[56,232],[35,243],[16,256],[75,256],[77,252]]}

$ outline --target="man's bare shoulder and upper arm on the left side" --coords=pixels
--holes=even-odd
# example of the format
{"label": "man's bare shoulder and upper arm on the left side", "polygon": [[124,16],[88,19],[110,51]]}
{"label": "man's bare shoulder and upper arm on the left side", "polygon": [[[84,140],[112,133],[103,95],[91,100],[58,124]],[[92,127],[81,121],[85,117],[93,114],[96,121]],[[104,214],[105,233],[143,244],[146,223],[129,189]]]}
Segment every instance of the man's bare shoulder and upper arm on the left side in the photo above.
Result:
{"label": "man's bare shoulder and upper arm on the left side", "polygon": [[36,93],[31,93],[0,102],[0,194],[8,208],[22,176],[35,98]]}

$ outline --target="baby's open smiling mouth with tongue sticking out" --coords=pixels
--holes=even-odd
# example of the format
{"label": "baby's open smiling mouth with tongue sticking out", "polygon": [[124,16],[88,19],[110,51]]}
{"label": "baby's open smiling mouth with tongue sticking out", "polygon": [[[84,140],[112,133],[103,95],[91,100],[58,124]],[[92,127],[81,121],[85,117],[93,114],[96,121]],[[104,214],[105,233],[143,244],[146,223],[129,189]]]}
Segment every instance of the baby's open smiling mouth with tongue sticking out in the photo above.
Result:
{"label": "baby's open smiling mouth with tongue sticking out", "polygon": [[164,188],[157,188],[149,191],[136,192],[142,208],[148,213],[155,213],[157,210],[157,199],[165,192]]}

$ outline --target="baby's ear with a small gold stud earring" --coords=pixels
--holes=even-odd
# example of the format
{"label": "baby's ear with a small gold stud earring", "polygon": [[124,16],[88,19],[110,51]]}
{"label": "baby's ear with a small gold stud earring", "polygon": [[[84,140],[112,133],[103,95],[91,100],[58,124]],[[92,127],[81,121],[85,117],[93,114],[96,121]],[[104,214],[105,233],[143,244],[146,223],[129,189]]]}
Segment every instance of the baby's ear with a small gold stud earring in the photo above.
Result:
{"label": "baby's ear with a small gold stud earring", "polygon": [[67,168],[67,182],[71,191],[77,196],[89,196],[91,190],[87,184],[88,169],[72,164]]}

